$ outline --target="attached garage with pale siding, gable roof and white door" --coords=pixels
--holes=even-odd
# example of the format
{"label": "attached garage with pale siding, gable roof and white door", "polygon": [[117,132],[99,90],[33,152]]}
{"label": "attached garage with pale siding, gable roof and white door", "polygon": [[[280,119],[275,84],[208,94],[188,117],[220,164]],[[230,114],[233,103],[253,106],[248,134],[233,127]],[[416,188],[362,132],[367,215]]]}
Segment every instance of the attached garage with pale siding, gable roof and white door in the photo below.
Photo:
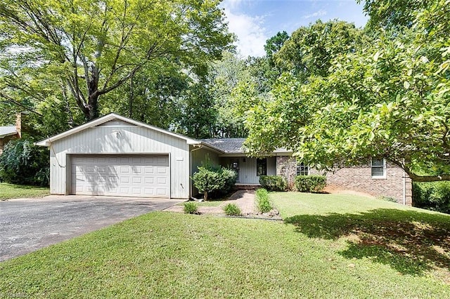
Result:
{"label": "attached garage with pale siding, gable roof and white door", "polygon": [[37,145],[50,150],[50,193],[188,199],[200,141],[108,114]]}

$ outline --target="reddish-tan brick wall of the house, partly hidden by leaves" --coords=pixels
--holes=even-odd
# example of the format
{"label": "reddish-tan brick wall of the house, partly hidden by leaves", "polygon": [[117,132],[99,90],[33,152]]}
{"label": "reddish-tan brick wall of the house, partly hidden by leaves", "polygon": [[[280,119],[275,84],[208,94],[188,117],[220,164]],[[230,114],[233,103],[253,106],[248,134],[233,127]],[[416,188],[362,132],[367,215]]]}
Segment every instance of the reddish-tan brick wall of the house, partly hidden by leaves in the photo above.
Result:
{"label": "reddish-tan brick wall of the house, partly hidden by leaves", "polygon": [[[276,174],[284,175],[289,182],[293,182],[297,163],[293,157],[276,157]],[[340,187],[357,192],[366,192],[375,197],[384,196],[397,199],[403,204],[412,205],[411,179],[403,169],[394,164],[387,163],[385,178],[372,178],[370,161],[361,166],[336,168],[326,173],[326,184],[330,187]],[[310,174],[321,174],[311,169]]]}

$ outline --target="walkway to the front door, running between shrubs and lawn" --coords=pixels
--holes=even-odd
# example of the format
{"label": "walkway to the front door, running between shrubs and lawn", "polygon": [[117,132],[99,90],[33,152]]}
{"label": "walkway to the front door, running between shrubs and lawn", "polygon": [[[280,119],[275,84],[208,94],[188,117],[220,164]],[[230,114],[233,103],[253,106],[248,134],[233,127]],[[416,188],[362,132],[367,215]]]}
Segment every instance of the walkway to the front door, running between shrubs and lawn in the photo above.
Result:
{"label": "walkway to the front door, running between shrubs and lawn", "polygon": [[[222,201],[220,206],[199,206],[198,212],[223,214],[224,206],[227,204],[236,204],[242,215],[252,215],[255,213],[255,190],[238,190],[231,195],[229,200]],[[183,213],[183,206],[171,206],[164,211]]]}

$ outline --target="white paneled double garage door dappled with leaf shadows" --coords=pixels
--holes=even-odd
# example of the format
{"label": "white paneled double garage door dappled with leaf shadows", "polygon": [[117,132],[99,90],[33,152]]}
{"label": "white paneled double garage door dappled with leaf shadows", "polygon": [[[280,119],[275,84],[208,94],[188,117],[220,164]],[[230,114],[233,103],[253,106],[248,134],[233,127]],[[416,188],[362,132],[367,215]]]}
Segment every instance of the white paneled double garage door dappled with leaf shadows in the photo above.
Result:
{"label": "white paneled double garage door dappled with leaf shadows", "polygon": [[169,197],[169,156],[72,156],[72,194]]}

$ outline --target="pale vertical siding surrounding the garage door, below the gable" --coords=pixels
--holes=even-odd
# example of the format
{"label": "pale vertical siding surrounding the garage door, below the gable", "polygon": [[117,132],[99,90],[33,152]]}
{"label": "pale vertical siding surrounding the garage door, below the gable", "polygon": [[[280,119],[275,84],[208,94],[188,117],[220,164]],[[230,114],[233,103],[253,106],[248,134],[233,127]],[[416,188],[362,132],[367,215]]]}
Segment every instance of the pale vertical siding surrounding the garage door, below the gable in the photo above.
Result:
{"label": "pale vertical siding surrounding the garage door, below the gable", "polygon": [[[70,154],[169,154],[170,197],[189,196],[189,146],[186,140],[141,126],[98,126],[51,145],[51,194],[70,190]],[[69,168],[69,171],[68,171]]]}

